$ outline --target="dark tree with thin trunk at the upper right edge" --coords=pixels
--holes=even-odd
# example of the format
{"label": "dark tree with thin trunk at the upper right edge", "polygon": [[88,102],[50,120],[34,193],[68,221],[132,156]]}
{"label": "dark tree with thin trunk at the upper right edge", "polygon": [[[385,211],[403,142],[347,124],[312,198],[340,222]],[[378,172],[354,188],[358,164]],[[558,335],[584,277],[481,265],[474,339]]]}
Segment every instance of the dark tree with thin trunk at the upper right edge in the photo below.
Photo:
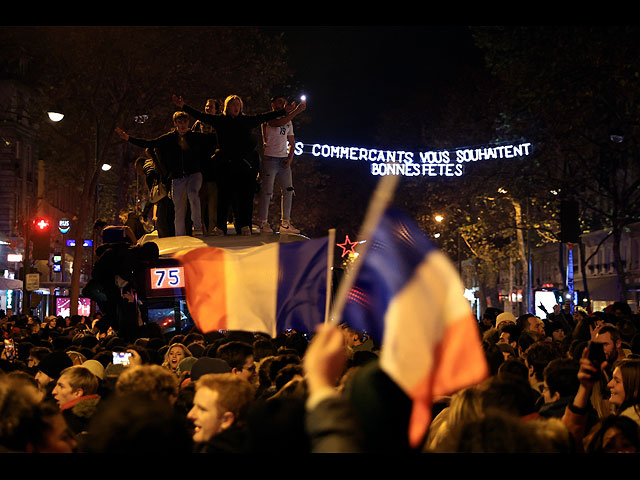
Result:
{"label": "dark tree with thin trunk at the upper right edge", "polygon": [[514,126],[540,139],[545,168],[538,181],[561,199],[580,202],[585,231],[611,229],[618,299],[625,300],[620,238],[640,219],[640,30],[493,27],[475,33],[503,79]]}

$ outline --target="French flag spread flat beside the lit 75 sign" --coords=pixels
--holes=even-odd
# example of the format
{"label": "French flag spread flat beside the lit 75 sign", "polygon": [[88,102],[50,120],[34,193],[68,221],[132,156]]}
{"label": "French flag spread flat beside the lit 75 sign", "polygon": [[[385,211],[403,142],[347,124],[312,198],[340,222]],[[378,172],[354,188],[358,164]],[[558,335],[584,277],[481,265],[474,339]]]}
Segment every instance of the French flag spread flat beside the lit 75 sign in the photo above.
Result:
{"label": "French flag spread flat beside the lit 75 sign", "polygon": [[325,316],[327,248],[325,237],[178,254],[189,313],[204,333],[313,332]]}

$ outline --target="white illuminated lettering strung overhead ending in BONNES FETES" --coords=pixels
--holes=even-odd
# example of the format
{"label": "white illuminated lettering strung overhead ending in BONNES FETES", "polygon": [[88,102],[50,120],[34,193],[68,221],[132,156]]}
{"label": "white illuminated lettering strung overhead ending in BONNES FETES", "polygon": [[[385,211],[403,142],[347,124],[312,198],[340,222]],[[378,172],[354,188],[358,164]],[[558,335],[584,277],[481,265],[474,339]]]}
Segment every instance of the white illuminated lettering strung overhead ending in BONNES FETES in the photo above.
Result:
{"label": "white illuminated lettering strung overhead ending in BONNES FETES", "polygon": [[314,157],[365,161],[371,165],[372,175],[406,175],[427,177],[460,177],[464,164],[492,159],[525,157],[532,152],[530,143],[519,143],[454,150],[406,152],[375,148],[344,147],[297,142],[295,154]]}

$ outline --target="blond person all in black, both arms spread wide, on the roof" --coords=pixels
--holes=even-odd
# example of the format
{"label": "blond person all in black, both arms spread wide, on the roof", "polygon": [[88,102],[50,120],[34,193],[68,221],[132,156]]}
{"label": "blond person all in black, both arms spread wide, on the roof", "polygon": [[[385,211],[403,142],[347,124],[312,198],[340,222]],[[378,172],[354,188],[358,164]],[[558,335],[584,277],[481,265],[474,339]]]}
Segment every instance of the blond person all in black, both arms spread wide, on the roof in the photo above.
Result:
{"label": "blond person all in black, both arms spread wide, on the roof", "polygon": [[253,197],[256,194],[260,156],[257,143],[251,137],[254,128],[282,117],[298,106],[295,103],[280,110],[247,115],[243,113],[242,99],[229,95],[224,101],[223,113],[211,115],[185,104],[182,97],[173,96],[176,106],[202,123],[215,128],[218,150],[214,162],[218,179],[218,228],[227,233],[227,211],[231,205],[236,228],[242,235],[251,235]]}

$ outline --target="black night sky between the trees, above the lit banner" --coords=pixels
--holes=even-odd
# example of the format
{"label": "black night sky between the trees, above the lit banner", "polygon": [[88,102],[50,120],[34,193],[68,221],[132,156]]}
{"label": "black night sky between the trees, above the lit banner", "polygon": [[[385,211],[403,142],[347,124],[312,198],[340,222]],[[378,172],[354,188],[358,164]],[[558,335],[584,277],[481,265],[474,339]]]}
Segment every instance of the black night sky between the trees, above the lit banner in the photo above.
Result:
{"label": "black night sky between the trees, above the lit banner", "polygon": [[296,131],[304,143],[375,147],[378,113],[477,61],[464,26],[265,28],[285,32],[296,85],[307,95],[310,123]]}

